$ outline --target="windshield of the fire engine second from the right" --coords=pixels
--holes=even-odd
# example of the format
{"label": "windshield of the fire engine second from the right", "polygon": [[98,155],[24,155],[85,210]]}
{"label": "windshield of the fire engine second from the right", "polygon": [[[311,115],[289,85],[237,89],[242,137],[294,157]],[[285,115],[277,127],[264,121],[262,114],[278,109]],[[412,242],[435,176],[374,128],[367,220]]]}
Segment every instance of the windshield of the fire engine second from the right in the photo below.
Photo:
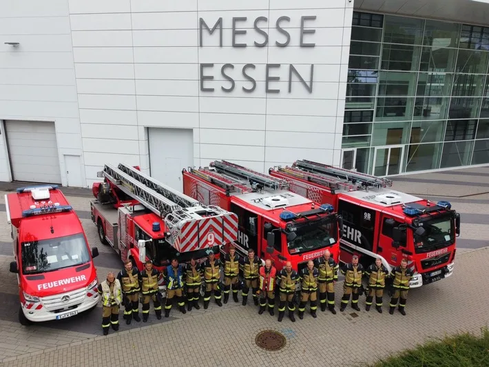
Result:
{"label": "windshield of the fire engine second from the right", "polygon": [[335,244],[337,237],[334,221],[306,223],[302,226],[293,227],[293,232],[297,237],[288,244],[291,255],[331,246]]}

